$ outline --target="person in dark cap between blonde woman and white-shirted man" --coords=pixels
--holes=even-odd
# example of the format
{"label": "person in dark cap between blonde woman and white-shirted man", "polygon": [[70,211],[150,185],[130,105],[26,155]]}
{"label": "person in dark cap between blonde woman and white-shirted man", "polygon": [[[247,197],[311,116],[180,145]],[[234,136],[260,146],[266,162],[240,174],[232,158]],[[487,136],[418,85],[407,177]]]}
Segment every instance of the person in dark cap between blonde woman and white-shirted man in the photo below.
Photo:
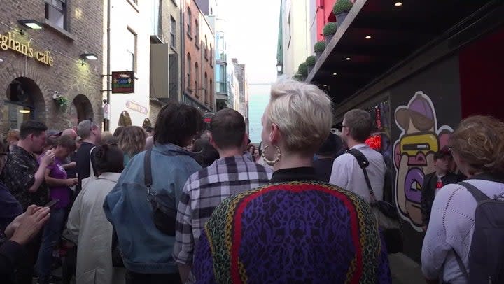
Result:
{"label": "person in dark cap between blonde woman and white-shirted man", "polygon": [[337,152],[342,148],[343,142],[339,136],[330,133],[328,139],[321,145],[321,148],[316,152],[317,159],[314,161],[314,168],[316,176],[329,182],[331,175],[332,164],[334,163]]}

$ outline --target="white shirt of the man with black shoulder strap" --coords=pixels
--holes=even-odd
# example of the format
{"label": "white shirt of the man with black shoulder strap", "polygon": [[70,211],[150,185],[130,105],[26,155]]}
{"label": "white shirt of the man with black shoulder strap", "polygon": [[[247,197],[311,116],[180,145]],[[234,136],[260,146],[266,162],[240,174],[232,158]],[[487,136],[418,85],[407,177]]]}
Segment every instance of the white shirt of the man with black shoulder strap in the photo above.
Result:
{"label": "white shirt of the man with black shoulder strap", "polygon": [[[386,166],[383,156],[370,148],[367,144],[358,144],[352,147],[362,152],[370,162],[367,166],[367,176],[370,178],[374,197],[383,200],[383,187],[385,182]],[[370,192],[364,178],[363,169],[358,165],[357,159],[349,153],[345,153],[335,159],[332,164],[332,173],[329,183],[354,192],[367,202],[370,202]]]}

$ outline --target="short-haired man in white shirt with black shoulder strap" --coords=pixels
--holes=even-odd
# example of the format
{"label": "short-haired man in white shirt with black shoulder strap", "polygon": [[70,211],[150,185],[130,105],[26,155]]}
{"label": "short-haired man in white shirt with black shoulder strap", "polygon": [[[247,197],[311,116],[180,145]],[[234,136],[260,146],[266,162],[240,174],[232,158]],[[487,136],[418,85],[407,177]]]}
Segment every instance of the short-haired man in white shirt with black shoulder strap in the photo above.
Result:
{"label": "short-haired man in white shirt with black shoulder strap", "polygon": [[[341,137],[349,149],[356,149],[367,158],[369,166],[366,171],[374,192],[374,199],[383,200],[386,171],[384,158],[365,143],[371,135],[372,128],[371,115],[367,111],[353,109],[344,115]],[[329,183],[356,193],[367,202],[372,201],[363,169],[350,153],[345,153],[335,159]]]}

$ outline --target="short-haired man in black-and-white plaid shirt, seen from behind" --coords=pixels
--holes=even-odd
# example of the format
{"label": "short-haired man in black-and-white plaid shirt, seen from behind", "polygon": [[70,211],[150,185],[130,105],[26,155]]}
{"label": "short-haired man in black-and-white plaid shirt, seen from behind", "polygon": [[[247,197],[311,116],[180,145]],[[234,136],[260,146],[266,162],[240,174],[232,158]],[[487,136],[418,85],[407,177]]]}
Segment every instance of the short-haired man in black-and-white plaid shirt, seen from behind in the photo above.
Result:
{"label": "short-haired man in black-and-white plaid shirt, seen from behind", "polygon": [[211,119],[210,128],[210,143],[221,158],[190,176],[183,188],[176,218],[173,257],[179,264],[182,283],[194,281],[190,269],[195,243],[214,209],[231,195],[267,184],[272,176],[270,169],[243,156],[248,135],[244,117],[239,112],[230,108],[218,111]]}

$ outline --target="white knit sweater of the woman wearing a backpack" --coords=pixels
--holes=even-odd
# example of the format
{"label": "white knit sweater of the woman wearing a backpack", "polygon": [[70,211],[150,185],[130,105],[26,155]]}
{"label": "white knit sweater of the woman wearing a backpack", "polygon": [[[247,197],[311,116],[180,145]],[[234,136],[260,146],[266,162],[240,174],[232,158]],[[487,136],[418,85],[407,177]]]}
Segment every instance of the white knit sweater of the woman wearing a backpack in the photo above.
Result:
{"label": "white knit sweater of the woman wearing a backpack", "polygon": [[[493,197],[504,192],[504,184],[488,180],[465,180]],[[469,267],[469,249],[475,227],[477,201],[462,185],[444,185],[437,193],[422,246],[422,272],[426,278],[465,284],[452,248]]]}

